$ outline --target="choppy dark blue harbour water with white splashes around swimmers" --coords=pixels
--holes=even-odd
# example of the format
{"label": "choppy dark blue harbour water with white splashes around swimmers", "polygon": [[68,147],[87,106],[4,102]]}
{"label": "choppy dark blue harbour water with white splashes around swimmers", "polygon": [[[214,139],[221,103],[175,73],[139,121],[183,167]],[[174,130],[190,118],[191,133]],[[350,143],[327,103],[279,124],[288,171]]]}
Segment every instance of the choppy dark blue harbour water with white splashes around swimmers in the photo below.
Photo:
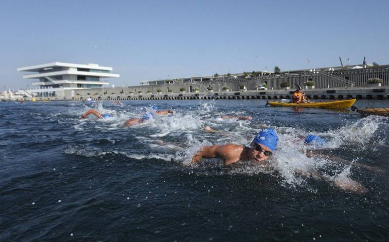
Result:
{"label": "choppy dark blue harbour water with white splashes around swimmers", "polygon": [[[79,120],[81,102],[0,103],[0,241],[389,240],[388,118],[262,100],[123,103],[98,103],[105,120]],[[175,114],[123,127],[151,104]],[[270,166],[189,164],[201,145],[249,145],[264,126],[280,137]],[[308,134],[327,140],[321,156],[305,155],[319,148]]]}

